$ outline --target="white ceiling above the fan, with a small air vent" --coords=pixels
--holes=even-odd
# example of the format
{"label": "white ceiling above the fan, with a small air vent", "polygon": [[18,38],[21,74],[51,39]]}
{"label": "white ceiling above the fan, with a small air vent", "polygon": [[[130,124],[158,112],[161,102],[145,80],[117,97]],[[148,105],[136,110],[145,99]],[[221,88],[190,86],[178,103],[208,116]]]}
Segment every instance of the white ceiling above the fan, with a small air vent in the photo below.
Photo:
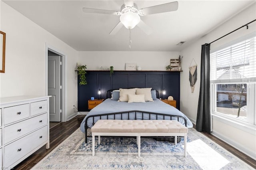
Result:
{"label": "white ceiling above the fan, with a small air vent", "polygon": [[[172,1],[134,2],[140,9]],[[4,2],[77,51],[180,51],[255,1],[178,1],[177,11],[141,17],[153,33],[148,36],[136,26],[132,29],[131,49],[125,27],[116,35],[109,35],[119,16],[82,12],[83,7],[120,11],[123,0]],[[176,45],[180,41],[186,42]]]}

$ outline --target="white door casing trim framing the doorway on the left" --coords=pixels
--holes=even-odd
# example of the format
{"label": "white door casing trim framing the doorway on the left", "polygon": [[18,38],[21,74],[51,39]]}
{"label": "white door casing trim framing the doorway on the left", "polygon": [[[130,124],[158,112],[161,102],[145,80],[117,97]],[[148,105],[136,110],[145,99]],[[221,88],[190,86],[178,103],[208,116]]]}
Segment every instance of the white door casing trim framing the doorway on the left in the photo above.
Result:
{"label": "white door casing trim framing the doorway on the left", "polygon": [[67,72],[67,64],[68,64],[68,56],[63,53],[62,51],[56,49],[55,47],[52,47],[51,45],[48,45],[45,43],[45,95],[48,95],[48,50],[52,51],[58,55],[62,56],[62,117],[61,121],[66,122],[67,121],[67,110],[68,110],[68,99],[67,99],[67,94],[68,94],[68,86],[67,86],[67,79],[68,79],[68,72]]}

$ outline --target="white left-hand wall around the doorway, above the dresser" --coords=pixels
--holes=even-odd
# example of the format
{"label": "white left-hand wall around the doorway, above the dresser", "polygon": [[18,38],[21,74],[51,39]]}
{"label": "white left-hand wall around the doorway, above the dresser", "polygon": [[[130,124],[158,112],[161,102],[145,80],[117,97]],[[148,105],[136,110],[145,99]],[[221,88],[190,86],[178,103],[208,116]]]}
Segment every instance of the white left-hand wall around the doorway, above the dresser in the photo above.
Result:
{"label": "white left-hand wall around the doorway, above the dresser", "polygon": [[67,113],[74,114],[77,101],[77,51],[4,2],[1,31],[6,33],[5,73],[0,73],[0,97],[45,95],[46,44],[67,55]]}

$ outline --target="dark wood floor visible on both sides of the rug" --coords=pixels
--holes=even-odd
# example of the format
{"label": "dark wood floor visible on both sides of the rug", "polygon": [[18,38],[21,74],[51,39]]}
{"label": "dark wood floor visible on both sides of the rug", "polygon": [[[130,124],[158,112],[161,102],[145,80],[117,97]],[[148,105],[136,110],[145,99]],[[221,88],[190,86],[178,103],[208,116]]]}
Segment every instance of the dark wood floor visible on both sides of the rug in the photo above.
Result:
{"label": "dark wood floor visible on both sides of the rug", "polygon": [[[78,117],[74,117],[68,122],[62,122],[55,127],[50,129],[50,148],[47,150],[45,146],[40,148],[38,151],[36,151],[34,154],[29,156],[27,159],[22,161],[20,164],[18,164],[14,169],[17,170],[28,170],[32,168],[34,165],[36,165],[44,156],[46,156],[48,153],[50,153],[58,144],[60,144],[62,141],[64,141],[70,134],[72,134],[78,127],[80,127],[80,123],[82,119],[84,118],[84,115],[78,115]],[[219,140],[215,136],[207,133],[203,133],[210,139],[212,139],[214,142],[220,144],[223,148],[231,152],[232,154],[236,155],[238,158],[242,159],[244,162],[250,164],[252,167],[256,168],[256,160],[250,158],[249,156],[246,156],[242,152],[236,150],[232,146],[226,144],[222,140]]]}

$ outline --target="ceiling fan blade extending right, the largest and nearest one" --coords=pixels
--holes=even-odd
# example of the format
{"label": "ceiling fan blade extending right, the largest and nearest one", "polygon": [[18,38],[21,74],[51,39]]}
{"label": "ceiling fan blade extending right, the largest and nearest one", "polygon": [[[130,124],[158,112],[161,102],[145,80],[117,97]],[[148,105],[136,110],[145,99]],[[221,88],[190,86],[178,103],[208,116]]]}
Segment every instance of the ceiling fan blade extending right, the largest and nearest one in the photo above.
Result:
{"label": "ceiling fan blade extending right, the largest and nearest one", "polygon": [[158,13],[164,13],[164,12],[171,12],[178,10],[178,2],[170,2],[166,4],[156,5],[156,6],[150,6],[147,8],[142,8],[139,10],[140,16],[144,15],[150,15],[150,14],[158,14]]}

